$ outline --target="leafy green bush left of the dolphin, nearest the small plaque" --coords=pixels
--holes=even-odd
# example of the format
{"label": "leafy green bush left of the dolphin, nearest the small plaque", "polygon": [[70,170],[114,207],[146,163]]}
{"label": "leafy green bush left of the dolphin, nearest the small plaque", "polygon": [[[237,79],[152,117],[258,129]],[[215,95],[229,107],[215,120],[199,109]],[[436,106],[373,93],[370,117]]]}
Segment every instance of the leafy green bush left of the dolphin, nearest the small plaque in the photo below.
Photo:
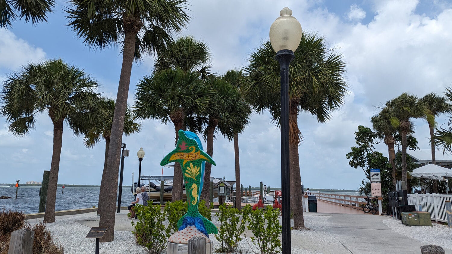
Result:
{"label": "leafy green bush left of the dolphin, nearest the small plaque", "polygon": [[167,209],[161,211],[160,204],[149,202],[147,206],[135,205],[137,222],[132,221],[137,244],[141,245],[149,254],[160,254],[166,249],[166,241],[171,236],[170,227],[163,222],[167,216]]}

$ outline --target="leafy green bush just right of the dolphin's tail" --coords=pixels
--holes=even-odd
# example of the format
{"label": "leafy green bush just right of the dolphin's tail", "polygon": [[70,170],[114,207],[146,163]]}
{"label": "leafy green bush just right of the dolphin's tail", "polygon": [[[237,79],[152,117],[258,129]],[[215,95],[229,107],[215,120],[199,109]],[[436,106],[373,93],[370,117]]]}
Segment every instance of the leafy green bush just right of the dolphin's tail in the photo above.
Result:
{"label": "leafy green bush just right of the dolphin's tail", "polygon": [[237,208],[233,208],[232,205],[221,204],[218,207],[218,211],[215,216],[218,217],[221,226],[215,238],[220,246],[216,247],[215,251],[222,253],[234,252],[242,240],[242,234],[245,232],[245,224],[248,220],[251,206],[247,204],[240,211]]}

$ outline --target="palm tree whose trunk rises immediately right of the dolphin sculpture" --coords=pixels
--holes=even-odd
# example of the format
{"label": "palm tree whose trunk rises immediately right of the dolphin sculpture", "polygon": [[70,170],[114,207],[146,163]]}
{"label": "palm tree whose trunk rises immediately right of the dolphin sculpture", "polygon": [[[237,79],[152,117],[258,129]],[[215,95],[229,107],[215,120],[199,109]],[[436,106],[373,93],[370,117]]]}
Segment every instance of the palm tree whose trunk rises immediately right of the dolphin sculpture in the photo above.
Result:
{"label": "palm tree whose trunk rises immediately right of the dolphin sculpture", "polygon": [[[240,110],[243,110],[244,107],[241,106],[243,97],[237,87],[223,78],[212,79],[211,82],[214,94],[211,97],[210,106],[208,107],[207,112],[205,112],[203,117],[199,117],[199,119],[202,119],[202,122],[205,125],[204,138],[207,141],[206,152],[212,157],[213,139],[217,131],[217,126],[231,126],[231,129],[229,130],[234,131],[232,126],[237,124],[237,121],[240,121],[242,118],[242,116],[240,116]],[[223,128],[223,131],[226,130],[226,127]],[[210,182],[211,169],[212,164],[206,162],[206,169],[204,171],[204,182],[206,183]],[[206,203],[210,202],[209,193],[210,185],[203,185],[201,198],[204,199]]]}

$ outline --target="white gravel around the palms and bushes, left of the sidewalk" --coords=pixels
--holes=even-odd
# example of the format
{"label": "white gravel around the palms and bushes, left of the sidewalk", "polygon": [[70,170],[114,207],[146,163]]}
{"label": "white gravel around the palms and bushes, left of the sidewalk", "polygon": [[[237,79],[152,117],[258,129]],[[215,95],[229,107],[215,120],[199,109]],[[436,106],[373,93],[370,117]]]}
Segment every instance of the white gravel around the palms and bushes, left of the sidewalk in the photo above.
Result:
{"label": "white gravel around the palms and bushes, left of the sidewalk", "polygon": [[[325,237],[325,223],[329,216],[312,216],[305,215],[306,226],[310,230],[292,230],[292,240],[303,237],[321,237],[323,241],[336,243],[337,240],[334,237]],[[46,227],[51,231],[52,236],[55,240],[61,242],[64,246],[66,254],[80,254],[80,253],[94,253],[95,249],[95,239],[85,238],[88,233],[88,227],[81,225],[75,221],[80,220],[98,220],[97,215],[74,215],[71,217],[56,218],[55,223],[48,223]],[[130,219],[116,218],[118,221],[130,221]],[[215,225],[219,225],[219,222],[215,216],[212,216],[212,222]],[[248,236],[251,235],[250,232],[247,233]],[[211,240],[213,243],[213,248],[218,246],[218,241],[215,239],[214,235],[211,235]],[[135,243],[135,239],[130,231],[115,231],[114,241],[108,243],[100,244],[100,253],[111,254],[111,253],[136,253],[145,254],[147,253],[144,249]],[[164,252],[165,253],[165,252]],[[237,249],[236,254],[246,254],[246,253],[258,253],[258,249],[251,243],[249,237],[243,239]],[[317,254],[316,252],[299,249],[292,247],[292,253],[297,254]]]}

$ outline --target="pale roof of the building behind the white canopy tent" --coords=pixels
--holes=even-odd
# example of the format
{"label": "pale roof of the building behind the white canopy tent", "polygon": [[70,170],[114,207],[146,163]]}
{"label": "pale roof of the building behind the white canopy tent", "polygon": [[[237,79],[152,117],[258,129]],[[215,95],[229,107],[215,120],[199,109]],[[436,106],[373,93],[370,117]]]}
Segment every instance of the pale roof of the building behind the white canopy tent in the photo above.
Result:
{"label": "pale roof of the building behind the white canopy tent", "polygon": [[[395,154],[399,154],[402,151],[398,150]],[[411,157],[411,162],[414,163],[417,167],[425,166],[427,164],[432,163],[432,150],[423,149],[411,151],[408,150],[406,153]],[[452,168],[452,155],[445,152],[443,150],[436,150],[436,165],[443,166],[446,168]]]}

